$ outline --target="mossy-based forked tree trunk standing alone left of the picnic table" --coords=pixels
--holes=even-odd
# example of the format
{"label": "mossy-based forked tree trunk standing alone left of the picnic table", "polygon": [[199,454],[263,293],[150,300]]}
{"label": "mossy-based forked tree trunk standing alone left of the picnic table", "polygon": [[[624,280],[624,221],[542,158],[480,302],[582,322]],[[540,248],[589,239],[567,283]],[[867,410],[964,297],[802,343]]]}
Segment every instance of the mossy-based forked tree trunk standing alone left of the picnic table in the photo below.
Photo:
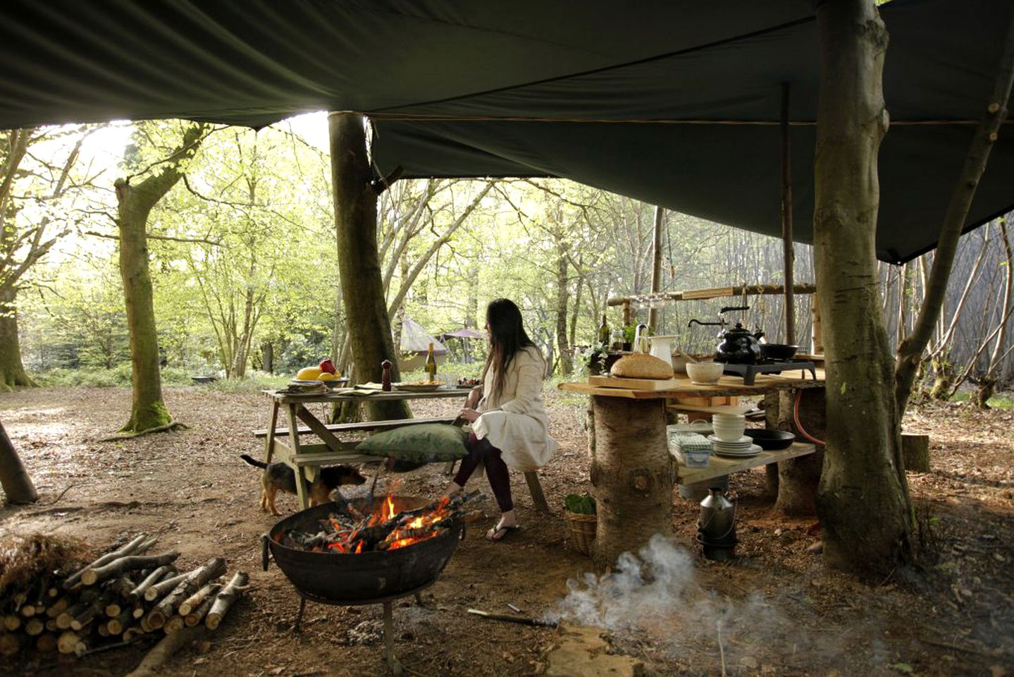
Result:
{"label": "mossy-based forked tree trunk standing alone left of the picnic table", "polygon": [[200,145],[203,125],[194,125],[184,134],[183,143],[166,160],[160,174],[136,186],[119,179],[117,191],[117,227],[120,230],[120,275],[123,278],[130,330],[131,378],[133,402],[130,420],[121,432],[142,432],[168,425],[172,421],[162,402],[162,382],[158,368],[158,334],[148,271],[148,215],[152,207],[169,192],[183,176],[180,165],[194,155]]}

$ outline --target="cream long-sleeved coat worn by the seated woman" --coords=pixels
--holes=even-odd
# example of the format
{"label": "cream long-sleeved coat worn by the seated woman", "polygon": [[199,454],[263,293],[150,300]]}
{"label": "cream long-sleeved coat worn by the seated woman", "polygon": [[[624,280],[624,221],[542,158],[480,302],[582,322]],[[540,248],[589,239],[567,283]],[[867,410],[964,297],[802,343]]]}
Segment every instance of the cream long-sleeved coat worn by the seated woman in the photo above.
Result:
{"label": "cream long-sleeved coat worn by the seated woman", "polygon": [[483,398],[476,407],[483,412],[472,429],[480,439],[503,452],[509,468],[529,472],[549,463],[557,451],[550,436],[550,418],[542,406],[542,374],[546,361],[534,347],[520,350],[504,375],[499,397],[496,377],[486,375]]}

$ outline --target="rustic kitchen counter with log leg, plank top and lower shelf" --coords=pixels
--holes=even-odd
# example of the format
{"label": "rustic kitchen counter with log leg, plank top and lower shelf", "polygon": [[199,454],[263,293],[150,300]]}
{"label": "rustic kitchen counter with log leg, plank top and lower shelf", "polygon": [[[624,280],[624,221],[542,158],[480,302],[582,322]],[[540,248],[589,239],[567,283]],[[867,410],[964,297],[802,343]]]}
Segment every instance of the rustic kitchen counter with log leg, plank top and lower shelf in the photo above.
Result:
{"label": "rustic kitchen counter with log leg, plank top and lower shelf", "polygon": [[811,454],[813,445],[794,444],[783,452],[763,452],[745,459],[713,457],[704,468],[690,468],[668,450],[666,408],[698,414],[721,411],[710,406],[714,398],[735,404],[739,397],[785,389],[822,388],[816,379],[799,371],[758,375],[751,386],[739,377],[722,377],[713,386],[699,386],[677,375],[671,388],[632,390],[564,383],[561,390],[591,397],[591,483],[598,505],[592,556],[600,568],[615,563],[629,550],[637,552],[654,534],[672,535],[672,489],[676,482],[705,481],[748,468]]}

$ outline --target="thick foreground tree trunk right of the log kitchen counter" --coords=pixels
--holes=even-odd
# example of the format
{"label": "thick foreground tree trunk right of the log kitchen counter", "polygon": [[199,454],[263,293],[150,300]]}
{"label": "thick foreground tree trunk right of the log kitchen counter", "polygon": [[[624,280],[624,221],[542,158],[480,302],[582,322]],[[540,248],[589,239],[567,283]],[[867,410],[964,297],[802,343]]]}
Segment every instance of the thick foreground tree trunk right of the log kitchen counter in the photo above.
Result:
{"label": "thick foreground tree trunk right of the log kitchen counter", "polygon": [[825,562],[882,578],[911,556],[912,528],[875,256],[887,31],[872,0],[819,4],[817,28],[813,231],[827,375],[817,512]]}

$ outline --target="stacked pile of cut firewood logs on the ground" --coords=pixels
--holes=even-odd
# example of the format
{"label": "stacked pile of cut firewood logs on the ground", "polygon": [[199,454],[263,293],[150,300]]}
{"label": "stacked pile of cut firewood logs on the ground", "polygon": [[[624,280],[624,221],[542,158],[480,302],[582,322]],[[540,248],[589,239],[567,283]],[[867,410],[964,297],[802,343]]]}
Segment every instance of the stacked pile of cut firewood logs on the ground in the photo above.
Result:
{"label": "stacked pile of cut firewood logs on the ground", "polygon": [[215,629],[247,588],[225,559],[178,571],[175,551],[150,554],[141,534],[87,561],[80,541],[34,535],[0,546],[0,655],[84,656],[203,623]]}

